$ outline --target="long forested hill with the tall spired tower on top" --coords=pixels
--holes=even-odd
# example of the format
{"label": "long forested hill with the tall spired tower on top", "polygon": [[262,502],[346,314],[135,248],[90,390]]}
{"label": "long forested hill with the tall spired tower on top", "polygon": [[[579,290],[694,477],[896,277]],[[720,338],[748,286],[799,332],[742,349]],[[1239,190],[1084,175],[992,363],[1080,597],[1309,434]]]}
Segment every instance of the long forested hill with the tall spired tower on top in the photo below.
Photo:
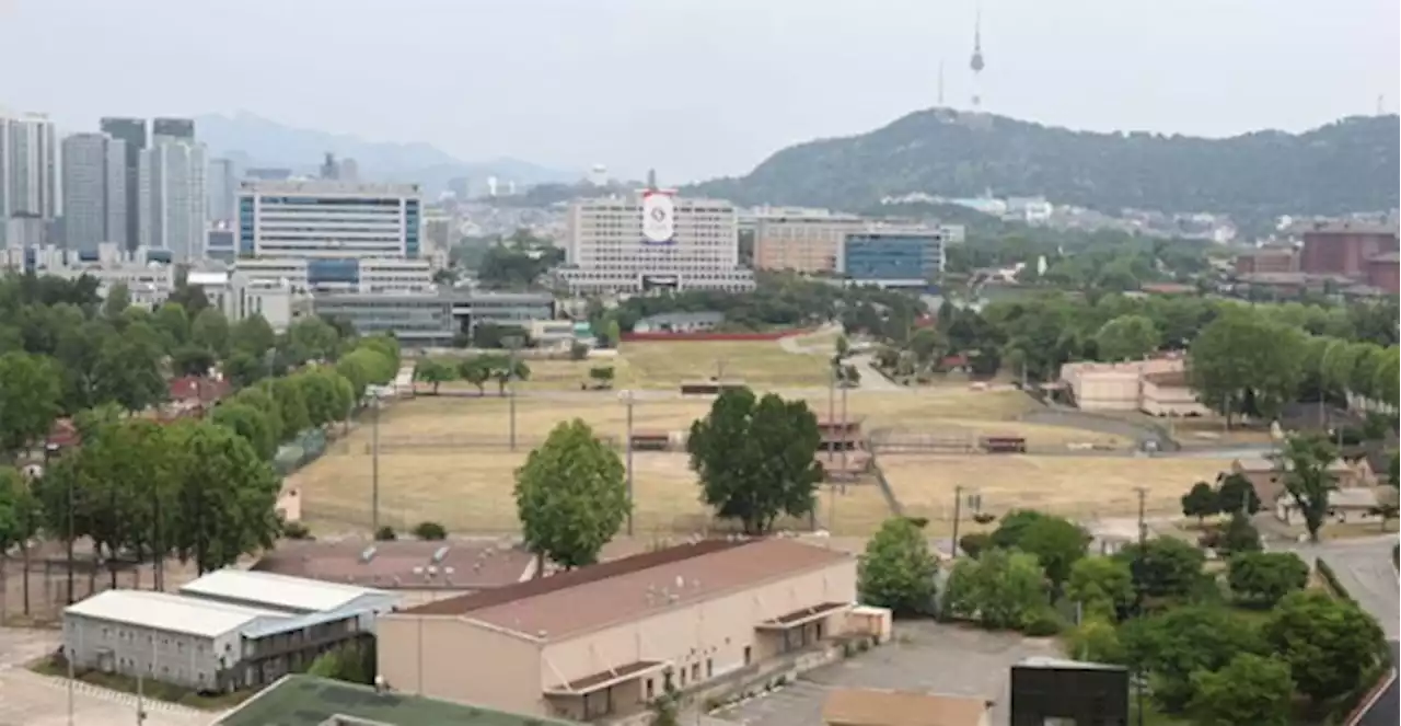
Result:
{"label": "long forested hill with the tall spired tower on top", "polygon": [[1045,196],[1104,212],[1215,212],[1238,220],[1390,209],[1401,200],[1401,116],[1229,139],[1076,132],[919,111],[883,129],[785,149],[693,192],[757,205],[863,209],[884,196]]}

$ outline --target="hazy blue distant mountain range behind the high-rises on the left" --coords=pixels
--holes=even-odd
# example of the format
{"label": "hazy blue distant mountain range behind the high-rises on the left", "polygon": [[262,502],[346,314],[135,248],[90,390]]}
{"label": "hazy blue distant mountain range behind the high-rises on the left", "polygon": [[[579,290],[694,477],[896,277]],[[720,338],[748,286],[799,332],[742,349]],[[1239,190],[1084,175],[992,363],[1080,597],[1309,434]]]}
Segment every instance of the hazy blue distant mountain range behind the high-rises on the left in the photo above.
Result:
{"label": "hazy blue distant mountain range behind the high-rises on the left", "polygon": [[541,182],[573,182],[581,172],[546,168],[517,158],[462,161],[426,143],[367,142],[357,136],[284,126],[262,116],[238,112],[233,116],[195,118],[199,140],[213,156],[235,158],[245,167],[291,168],[315,174],[329,151],[353,158],[360,175],[385,182],[417,182],[430,192],[447,188],[448,179],[467,177],[474,188],[485,188],[488,177],[524,186]]}

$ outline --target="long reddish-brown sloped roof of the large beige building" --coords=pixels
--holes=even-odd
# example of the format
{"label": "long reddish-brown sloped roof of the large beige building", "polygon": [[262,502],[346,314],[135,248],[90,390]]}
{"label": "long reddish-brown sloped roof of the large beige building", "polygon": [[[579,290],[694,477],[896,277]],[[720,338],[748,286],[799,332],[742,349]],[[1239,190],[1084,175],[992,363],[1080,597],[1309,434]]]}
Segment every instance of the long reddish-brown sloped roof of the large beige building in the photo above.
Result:
{"label": "long reddish-brown sloped roof of the large beige building", "polygon": [[706,540],[439,600],[403,614],[467,615],[530,638],[555,639],[849,559],[846,552],[785,538]]}

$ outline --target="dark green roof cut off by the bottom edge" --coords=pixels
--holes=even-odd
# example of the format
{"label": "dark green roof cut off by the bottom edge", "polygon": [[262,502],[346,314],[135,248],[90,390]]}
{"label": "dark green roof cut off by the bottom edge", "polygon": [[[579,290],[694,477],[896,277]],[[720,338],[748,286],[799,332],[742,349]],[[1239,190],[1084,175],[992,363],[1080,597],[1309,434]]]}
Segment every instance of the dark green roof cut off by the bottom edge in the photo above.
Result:
{"label": "dark green roof cut off by the bottom edge", "polygon": [[467,704],[453,704],[396,691],[318,678],[286,676],[248,699],[214,726],[577,726],[572,722],[520,716]]}

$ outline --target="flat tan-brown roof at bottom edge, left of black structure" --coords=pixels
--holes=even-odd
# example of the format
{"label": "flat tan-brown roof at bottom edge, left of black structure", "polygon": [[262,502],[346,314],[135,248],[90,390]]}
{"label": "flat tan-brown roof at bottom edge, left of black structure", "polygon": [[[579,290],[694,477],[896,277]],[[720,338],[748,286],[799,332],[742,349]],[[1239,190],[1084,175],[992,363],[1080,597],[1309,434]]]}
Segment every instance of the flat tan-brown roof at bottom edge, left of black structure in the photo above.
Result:
{"label": "flat tan-brown roof at bottom edge, left of black structure", "polygon": [[827,726],[978,726],[988,702],[961,695],[838,688],[822,706]]}

